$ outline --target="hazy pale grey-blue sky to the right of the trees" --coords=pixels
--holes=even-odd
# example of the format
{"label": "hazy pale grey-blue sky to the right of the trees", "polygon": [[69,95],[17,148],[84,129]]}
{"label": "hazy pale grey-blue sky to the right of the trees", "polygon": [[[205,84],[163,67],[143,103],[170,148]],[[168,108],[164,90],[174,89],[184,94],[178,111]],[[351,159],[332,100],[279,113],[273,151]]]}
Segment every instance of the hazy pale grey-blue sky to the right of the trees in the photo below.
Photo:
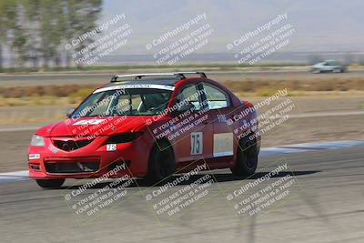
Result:
{"label": "hazy pale grey-blue sky to the right of the trees", "polygon": [[227,44],[278,14],[296,32],[284,51],[364,51],[363,0],[104,0],[105,22],[125,13],[130,35],[123,53],[147,54],[145,45],[197,14],[206,13],[214,34],[198,52],[227,52]]}

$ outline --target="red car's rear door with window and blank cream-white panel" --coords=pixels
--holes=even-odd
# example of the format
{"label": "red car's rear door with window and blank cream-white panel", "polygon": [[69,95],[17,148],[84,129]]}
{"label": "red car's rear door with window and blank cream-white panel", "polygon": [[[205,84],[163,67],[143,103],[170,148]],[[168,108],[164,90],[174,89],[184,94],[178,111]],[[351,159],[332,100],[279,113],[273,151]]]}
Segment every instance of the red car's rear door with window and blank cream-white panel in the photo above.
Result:
{"label": "red car's rear door with window and blank cream-white panel", "polygon": [[[205,98],[208,106],[208,116],[212,130],[212,156],[210,167],[226,167],[234,155],[234,143],[231,127],[227,126],[227,119],[234,107],[230,96],[224,90],[209,83],[203,83]],[[229,115],[227,115],[229,114]]]}

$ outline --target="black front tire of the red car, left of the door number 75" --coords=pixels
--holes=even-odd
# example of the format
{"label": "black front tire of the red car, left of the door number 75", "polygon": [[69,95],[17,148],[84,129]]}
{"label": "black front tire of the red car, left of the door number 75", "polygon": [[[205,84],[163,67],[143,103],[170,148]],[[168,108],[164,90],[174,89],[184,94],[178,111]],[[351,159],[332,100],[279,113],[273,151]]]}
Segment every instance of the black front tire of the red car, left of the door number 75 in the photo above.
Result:
{"label": "black front tire of the red car, left of the door number 75", "polygon": [[171,176],[176,170],[175,156],[165,141],[157,142],[148,160],[147,183],[157,183]]}

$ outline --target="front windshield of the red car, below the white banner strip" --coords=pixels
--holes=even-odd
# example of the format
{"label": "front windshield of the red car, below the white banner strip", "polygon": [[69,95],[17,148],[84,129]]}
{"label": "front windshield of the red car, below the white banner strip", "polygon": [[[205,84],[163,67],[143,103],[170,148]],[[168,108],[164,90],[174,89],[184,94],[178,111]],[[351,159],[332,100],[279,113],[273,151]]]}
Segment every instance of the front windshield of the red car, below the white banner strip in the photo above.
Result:
{"label": "front windshield of the red car, below the white banner strip", "polygon": [[171,90],[158,88],[96,90],[72,117],[153,116],[166,109],[171,94]]}

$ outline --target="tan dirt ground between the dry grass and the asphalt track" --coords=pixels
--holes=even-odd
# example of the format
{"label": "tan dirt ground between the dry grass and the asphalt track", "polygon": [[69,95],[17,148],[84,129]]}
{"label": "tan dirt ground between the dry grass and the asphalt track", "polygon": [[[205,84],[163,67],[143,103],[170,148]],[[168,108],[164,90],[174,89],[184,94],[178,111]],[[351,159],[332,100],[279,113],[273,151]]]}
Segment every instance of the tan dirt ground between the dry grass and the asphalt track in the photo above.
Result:
{"label": "tan dirt ground between the dry grass and the asphalt track", "polygon": [[[267,97],[249,97],[248,100],[257,104],[264,98]],[[288,96],[282,99],[288,98],[297,107],[290,114],[292,118],[264,134],[262,147],[364,139],[364,114],[354,115],[355,112],[364,112],[364,96]],[[278,102],[273,102],[269,107]],[[61,120],[65,117],[66,108],[67,106],[1,107],[0,172],[26,169],[27,146],[36,127]],[[264,109],[260,112],[263,113]],[[14,128],[22,130],[6,131]]]}

